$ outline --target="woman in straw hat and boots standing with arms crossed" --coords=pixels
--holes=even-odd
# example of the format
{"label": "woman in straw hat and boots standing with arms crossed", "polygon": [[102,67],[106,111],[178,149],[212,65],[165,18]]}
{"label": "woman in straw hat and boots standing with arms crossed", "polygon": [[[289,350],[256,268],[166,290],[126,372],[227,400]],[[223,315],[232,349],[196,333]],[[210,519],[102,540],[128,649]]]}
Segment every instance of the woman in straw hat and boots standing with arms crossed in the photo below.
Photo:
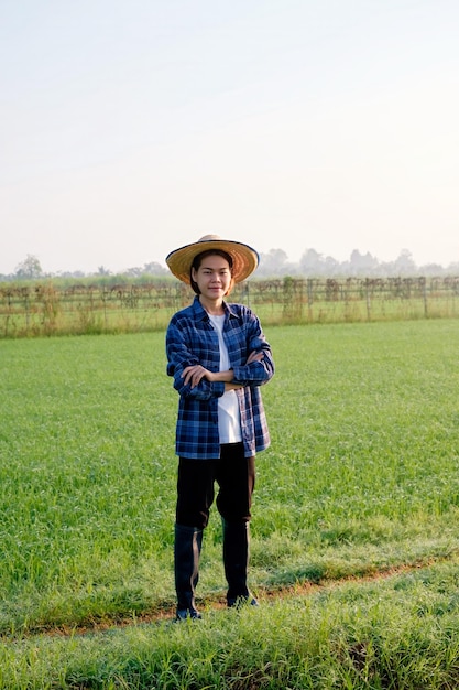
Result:
{"label": "woman in straw hat and boots standing with arms crossed", "polygon": [[207,235],[172,251],[171,271],[196,293],[171,320],[167,374],[179,395],[179,456],[174,568],[177,619],[200,618],[195,604],[203,530],[218,484],[227,603],[256,605],[247,585],[255,453],[270,444],[260,386],[274,374],[255,314],[225,298],[259,262],[248,245]]}

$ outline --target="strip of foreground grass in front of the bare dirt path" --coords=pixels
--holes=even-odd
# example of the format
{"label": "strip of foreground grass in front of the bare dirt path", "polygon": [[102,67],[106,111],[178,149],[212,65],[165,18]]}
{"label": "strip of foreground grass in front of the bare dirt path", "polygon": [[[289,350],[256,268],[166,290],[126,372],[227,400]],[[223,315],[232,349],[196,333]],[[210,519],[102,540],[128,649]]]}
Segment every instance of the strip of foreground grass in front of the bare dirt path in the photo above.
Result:
{"label": "strip of foreground grass in front of the bare dirt path", "polygon": [[35,636],[0,648],[0,687],[457,688],[458,561],[324,587],[196,624]]}

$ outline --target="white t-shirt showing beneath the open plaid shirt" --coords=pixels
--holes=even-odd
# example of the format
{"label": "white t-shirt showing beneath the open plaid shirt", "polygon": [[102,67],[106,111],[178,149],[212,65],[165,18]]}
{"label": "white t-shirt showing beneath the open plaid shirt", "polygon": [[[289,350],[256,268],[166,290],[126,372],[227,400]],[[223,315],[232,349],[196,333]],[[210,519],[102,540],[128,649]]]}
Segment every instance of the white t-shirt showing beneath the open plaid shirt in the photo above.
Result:
{"label": "white t-shirt showing beneath the open plaid shirt", "polygon": [[[209,319],[218,334],[220,371],[228,371],[228,369],[231,368],[231,364],[228,356],[228,348],[223,341],[225,314],[221,316],[209,314]],[[220,443],[240,443],[242,441],[241,417],[236,390],[227,390],[218,399],[218,432]]]}

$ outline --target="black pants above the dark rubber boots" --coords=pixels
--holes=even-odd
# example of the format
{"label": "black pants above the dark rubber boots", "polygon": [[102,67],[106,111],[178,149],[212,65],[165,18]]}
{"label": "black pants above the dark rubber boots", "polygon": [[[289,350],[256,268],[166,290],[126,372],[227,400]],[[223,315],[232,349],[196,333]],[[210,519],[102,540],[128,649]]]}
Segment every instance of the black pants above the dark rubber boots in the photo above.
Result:
{"label": "black pants above the dark rubber boots", "polygon": [[177,525],[207,527],[216,482],[219,486],[216,503],[221,517],[228,522],[250,520],[255,459],[244,457],[242,443],[228,443],[220,446],[220,457],[216,460],[179,459]]}

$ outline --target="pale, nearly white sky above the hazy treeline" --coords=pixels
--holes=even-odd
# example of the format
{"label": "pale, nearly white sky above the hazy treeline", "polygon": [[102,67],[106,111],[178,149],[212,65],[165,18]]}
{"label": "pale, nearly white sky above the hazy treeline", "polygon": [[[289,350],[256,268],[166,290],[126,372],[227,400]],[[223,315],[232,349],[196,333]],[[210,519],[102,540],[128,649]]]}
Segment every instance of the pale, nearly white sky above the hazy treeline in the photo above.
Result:
{"label": "pale, nearly white sky above the hazy treeline", "polygon": [[459,261],[458,0],[0,0],[0,273]]}

